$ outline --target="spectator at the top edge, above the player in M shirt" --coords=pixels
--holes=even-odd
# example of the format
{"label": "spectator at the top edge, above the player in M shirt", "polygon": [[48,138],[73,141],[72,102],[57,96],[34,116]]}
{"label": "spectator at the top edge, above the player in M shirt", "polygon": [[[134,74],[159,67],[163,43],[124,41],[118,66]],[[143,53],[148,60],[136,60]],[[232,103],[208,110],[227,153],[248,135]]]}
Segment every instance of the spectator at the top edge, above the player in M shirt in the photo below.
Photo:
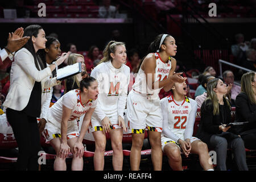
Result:
{"label": "spectator at the top edge, above the player in M shirt", "polygon": [[102,0],[102,5],[100,6],[98,13],[100,18],[117,18],[119,5],[112,6],[111,0]]}

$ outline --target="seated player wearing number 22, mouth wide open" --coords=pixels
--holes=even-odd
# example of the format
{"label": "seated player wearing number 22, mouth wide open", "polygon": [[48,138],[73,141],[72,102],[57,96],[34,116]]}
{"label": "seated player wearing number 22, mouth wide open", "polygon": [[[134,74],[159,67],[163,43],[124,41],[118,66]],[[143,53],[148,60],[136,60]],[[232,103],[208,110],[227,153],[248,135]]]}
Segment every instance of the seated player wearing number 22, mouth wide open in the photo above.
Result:
{"label": "seated player wearing number 22, mouth wide open", "polygon": [[198,154],[204,170],[212,171],[209,163],[207,144],[192,137],[196,118],[197,103],[188,98],[187,84],[176,82],[172,87],[174,93],[160,101],[163,113],[162,150],[168,156],[168,162],[175,171],[182,171],[180,148],[188,157],[190,153]]}

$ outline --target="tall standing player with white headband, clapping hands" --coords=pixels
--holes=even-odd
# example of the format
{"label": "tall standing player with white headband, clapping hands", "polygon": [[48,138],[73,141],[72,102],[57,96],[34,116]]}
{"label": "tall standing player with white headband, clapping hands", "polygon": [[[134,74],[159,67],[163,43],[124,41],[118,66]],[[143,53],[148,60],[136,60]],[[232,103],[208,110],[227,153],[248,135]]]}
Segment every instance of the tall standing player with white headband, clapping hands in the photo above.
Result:
{"label": "tall standing player with white headband, clapping hands", "polygon": [[131,170],[139,170],[144,130],[149,130],[152,146],[151,158],[155,170],[162,169],[161,132],[162,111],[158,93],[169,91],[174,82],[183,82],[182,73],[175,73],[177,46],[175,39],[167,34],[156,37],[148,48],[149,53],[142,61],[133,89],[127,97],[127,120],[132,133],[130,154]]}

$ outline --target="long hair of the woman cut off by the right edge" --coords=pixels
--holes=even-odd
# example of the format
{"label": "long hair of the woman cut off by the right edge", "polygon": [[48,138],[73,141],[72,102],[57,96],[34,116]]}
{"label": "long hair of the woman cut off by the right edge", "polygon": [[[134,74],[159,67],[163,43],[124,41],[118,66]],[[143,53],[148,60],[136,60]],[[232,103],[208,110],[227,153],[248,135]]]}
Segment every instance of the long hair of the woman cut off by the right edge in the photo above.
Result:
{"label": "long hair of the woman cut off by the right edge", "polygon": [[243,74],[243,76],[241,78],[241,92],[246,93],[251,104],[256,104],[256,101],[254,98],[255,93],[251,86],[251,82],[254,82],[254,76],[255,76],[254,72],[247,72],[247,73]]}

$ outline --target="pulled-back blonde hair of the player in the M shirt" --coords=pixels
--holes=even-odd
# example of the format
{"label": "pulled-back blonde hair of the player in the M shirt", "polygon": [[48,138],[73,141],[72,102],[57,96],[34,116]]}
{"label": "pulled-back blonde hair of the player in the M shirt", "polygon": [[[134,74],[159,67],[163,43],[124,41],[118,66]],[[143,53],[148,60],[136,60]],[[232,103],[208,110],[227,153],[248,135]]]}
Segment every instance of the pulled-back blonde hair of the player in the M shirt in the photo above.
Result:
{"label": "pulled-back blonde hair of the player in the M shirt", "polygon": [[117,48],[117,46],[125,46],[125,43],[116,42],[114,40],[110,41],[103,51],[103,58],[101,59],[99,64],[103,62],[112,61],[110,53],[115,53],[115,49]]}

